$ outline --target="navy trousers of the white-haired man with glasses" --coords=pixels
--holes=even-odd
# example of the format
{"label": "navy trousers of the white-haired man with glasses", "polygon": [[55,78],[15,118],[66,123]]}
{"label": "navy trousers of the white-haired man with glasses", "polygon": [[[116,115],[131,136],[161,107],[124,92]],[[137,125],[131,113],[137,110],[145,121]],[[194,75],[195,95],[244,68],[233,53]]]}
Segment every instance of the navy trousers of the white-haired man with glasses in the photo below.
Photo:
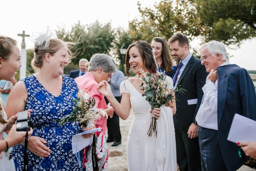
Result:
{"label": "navy trousers of the white-haired man with glasses", "polygon": [[198,126],[198,140],[200,147],[201,166],[203,171],[226,171],[218,131]]}

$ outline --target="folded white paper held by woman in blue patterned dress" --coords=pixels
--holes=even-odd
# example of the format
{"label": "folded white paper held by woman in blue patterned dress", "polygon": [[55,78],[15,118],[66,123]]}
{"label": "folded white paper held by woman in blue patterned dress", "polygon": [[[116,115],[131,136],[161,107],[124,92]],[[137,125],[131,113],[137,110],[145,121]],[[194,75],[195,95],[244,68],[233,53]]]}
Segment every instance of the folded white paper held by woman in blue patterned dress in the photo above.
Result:
{"label": "folded white paper held by woman in blue patterned dress", "polygon": [[76,154],[77,152],[79,152],[80,150],[82,150],[83,148],[85,148],[88,145],[92,144],[93,141],[93,136],[91,138],[83,138],[83,134],[89,134],[92,132],[98,132],[101,131],[102,128],[94,128],[92,130],[89,131],[84,131],[80,134],[76,134],[72,137],[72,151],[73,154]]}

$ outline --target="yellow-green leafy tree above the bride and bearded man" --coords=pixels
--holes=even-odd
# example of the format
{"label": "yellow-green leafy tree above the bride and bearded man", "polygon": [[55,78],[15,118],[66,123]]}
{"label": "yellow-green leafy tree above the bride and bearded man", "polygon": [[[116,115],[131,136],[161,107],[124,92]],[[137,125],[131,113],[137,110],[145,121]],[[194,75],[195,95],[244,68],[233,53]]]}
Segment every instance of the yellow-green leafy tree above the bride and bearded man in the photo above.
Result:
{"label": "yellow-green leafy tree above the bride and bearded man", "polygon": [[138,10],[141,17],[129,23],[129,34],[133,40],[145,40],[150,43],[156,36],[168,39],[177,31],[192,40],[207,31],[207,27],[201,24],[197,16],[194,3],[189,0],[163,0],[152,9],[141,8],[138,3]]}

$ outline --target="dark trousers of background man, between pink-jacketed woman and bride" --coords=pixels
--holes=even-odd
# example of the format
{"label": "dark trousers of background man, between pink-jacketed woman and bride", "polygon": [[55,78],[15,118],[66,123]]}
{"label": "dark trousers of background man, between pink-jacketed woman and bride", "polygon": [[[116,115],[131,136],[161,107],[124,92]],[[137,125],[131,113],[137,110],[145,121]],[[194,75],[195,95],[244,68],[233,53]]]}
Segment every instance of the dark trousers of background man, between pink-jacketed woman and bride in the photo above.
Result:
{"label": "dark trousers of background man, between pink-jacketed woman and bride", "polygon": [[[108,104],[109,101],[106,97],[105,101]],[[121,96],[115,97],[116,100],[121,103]],[[107,119],[107,127],[108,127],[108,139],[114,140],[114,141],[121,141],[121,132],[120,132],[120,126],[119,126],[119,116],[114,112],[113,117],[110,118],[110,116]]]}

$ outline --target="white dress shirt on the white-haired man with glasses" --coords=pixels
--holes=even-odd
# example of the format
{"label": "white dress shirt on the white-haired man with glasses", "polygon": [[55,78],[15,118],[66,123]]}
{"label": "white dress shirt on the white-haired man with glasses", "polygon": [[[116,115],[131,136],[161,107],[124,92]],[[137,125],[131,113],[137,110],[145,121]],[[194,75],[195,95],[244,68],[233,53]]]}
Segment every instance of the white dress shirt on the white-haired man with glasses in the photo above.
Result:
{"label": "white dress shirt on the white-haired man with glasses", "polygon": [[[222,63],[222,65],[230,64],[229,61]],[[202,87],[204,92],[204,101],[200,108],[198,109],[196,115],[196,122],[199,126],[218,130],[217,121],[217,93],[218,93],[218,80],[215,83],[208,81],[204,87]]]}

